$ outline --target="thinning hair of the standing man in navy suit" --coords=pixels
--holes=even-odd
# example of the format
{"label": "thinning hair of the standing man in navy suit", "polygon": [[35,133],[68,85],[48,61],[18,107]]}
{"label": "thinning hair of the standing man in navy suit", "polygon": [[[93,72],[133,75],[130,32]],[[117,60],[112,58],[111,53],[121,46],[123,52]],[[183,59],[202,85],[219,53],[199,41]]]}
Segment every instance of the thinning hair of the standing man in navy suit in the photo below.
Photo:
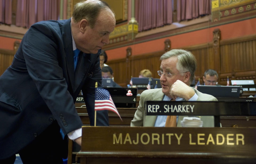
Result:
{"label": "thinning hair of the standing man in navy suit", "polygon": [[[72,17],[74,22],[77,23],[82,19],[86,19],[89,22],[91,28],[94,27],[99,12],[105,8],[111,8],[106,2],[102,1],[84,1],[75,4]],[[113,12],[113,10],[111,10]],[[114,12],[113,12],[114,13]]]}

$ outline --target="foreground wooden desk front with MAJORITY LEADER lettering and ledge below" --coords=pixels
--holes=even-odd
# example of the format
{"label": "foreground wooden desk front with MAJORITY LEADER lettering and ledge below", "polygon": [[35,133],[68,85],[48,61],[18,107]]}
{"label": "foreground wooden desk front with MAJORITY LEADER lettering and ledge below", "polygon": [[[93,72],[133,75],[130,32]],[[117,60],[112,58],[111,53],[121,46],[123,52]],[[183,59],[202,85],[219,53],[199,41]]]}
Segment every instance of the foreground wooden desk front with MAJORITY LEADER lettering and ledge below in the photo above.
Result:
{"label": "foreground wooden desk front with MAJORITY LEADER lettering and ledge below", "polygon": [[256,161],[256,128],[83,127],[82,131],[77,153],[81,164]]}

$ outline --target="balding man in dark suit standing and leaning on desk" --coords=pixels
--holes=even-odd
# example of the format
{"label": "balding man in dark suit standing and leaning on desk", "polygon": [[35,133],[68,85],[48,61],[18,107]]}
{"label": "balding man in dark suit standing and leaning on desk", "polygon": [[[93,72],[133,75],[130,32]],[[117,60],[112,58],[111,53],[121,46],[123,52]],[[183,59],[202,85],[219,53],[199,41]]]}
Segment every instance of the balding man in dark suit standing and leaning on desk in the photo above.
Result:
{"label": "balding man in dark suit standing and leaning on desk", "polygon": [[[76,4],[69,20],[30,27],[0,77],[0,163],[13,163],[17,153],[24,164],[63,163],[67,136],[81,145],[74,102],[82,90],[94,125],[99,53],[114,27],[109,6],[93,0]],[[107,111],[97,111],[96,124],[109,125]]]}

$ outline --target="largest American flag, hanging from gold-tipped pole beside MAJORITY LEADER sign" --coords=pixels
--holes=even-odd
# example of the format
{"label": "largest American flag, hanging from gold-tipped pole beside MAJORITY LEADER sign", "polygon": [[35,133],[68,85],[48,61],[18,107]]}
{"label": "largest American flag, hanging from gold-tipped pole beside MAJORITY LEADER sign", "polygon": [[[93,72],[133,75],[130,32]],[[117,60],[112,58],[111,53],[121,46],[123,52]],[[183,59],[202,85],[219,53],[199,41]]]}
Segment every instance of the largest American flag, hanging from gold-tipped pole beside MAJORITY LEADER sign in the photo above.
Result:
{"label": "largest American flag, hanging from gold-tipped pole beside MAJORITY LEADER sign", "polygon": [[122,120],[109,94],[109,91],[106,89],[95,88],[95,110],[111,110],[115,112]]}

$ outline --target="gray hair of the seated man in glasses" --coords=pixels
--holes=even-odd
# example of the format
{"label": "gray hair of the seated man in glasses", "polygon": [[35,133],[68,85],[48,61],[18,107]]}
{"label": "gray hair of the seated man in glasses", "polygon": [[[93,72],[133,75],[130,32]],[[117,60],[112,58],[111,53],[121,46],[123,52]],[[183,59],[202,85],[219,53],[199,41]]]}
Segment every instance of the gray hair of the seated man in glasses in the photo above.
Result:
{"label": "gray hair of the seated man in glasses", "polygon": [[[195,56],[186,50],[182,49],[173,49],[165,54],[163,54],[160,57],[160,60],[168,59],[170,57],[177,57],[178,62],[176,64],[176,68],[179,72],[190,72],[190,84],[195,78],[195,70],[197,69],[197,60],[195,59]],[[184,74],[181,74],[182,76]]]}

